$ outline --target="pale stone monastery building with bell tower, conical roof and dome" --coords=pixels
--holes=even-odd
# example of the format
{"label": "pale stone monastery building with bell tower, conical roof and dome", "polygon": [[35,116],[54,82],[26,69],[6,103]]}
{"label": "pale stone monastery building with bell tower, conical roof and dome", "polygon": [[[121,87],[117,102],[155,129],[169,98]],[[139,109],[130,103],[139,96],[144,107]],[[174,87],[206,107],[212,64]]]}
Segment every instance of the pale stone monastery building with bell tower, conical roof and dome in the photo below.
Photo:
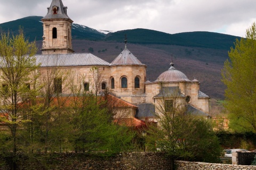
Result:
{"label": "pale stone monastery building with bell tower, conical roof and dome", "polygon": [[[135,105],[151,104],[158,107],[160,103],[164,105],[165,102],[163,97],[159,97],[163,88],[178,88],[181,93],[179,96],[180,103],[185,103],[186,100],[188,105],[195,108],[195,114],[202,112],[204,115],[201,114],[201,116],[209,117],[210,97],[199,90],[200,83],[198,80],[189,80],[185,74],[173,67],[173,62],[171,62],[170,69],[159,75],[157,80],[153,82],[146,81],[147,66],[130,52],[126,46],[126,41],[124,50],[111,63],[92,54],[73,53],[71,44],[71,25],[73,21],[68,17],[67,7],[63,6],[61,0],[52,0],[52,4],[42,21],[44,29],[42,55],[36,56],[41,58],[37,62],[41,63],[42,58],[46,56],[52,63],[61,60],[56,65],[52,63],[50,63],[50,66],[49,63],[42,64],[40,68],[42,76],[47,69],[58,67],[64,72],[68,70],[74,74],[76,86],[83,87],[85,84],[89,84],[89,90],[92,90],[95,87],[95,82],[93,82],[90,69],[97,67],[97,76],[100,75],[101,77],[100,82],[97,82],[101,84],[98,92],[108,88],[111,93],[129,103]],[[81,57],[83,57],[83,60]],[[78,60],[79,62],[76,63]],[[65,82],[63,81],[63,83]],[[62,87],[65,87],[65,84]],[[70,91],[63,89],[62,92],[68,93]],[[168,100],[173,100],[174,97],[176,96],[165,96]],[[157,108],[154,112],[157,113]],[[135,114],[129,115],[134,116]],[[140,120],[150,117],[151,120],[155,121],[152,115],[149,116],[150,114],[137,115]]]}

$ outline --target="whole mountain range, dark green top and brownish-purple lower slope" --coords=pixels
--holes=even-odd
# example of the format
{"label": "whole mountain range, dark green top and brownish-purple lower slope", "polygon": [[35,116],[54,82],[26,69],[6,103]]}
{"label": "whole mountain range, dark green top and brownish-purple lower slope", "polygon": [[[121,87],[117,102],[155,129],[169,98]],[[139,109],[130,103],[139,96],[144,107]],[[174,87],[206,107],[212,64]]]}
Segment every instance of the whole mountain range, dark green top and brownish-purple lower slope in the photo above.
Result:
{"label": "whole mountain range, dark green top and brownish-purple lower slope", "polygon": [[[2,30],[18,33],[19,26],[30,40],[42,46],[42,16],[28,16],[0,24]],[[201,91],[212,98],[223,99],[225,86],[221,82],[221,69],[228,58],[228,50],[241,37],[214,32],[165,33],[149,29],[132,29],[117,32],[96,30],[73,23],[72,37],[75,52],[92,54],[112,62],[124,49],[127,36],[129,50],[147,67],[147,80],[155,81],[159,74],[174,67],[190,80],[201,82]],[[40,53],[40,51],[38,51]]]}

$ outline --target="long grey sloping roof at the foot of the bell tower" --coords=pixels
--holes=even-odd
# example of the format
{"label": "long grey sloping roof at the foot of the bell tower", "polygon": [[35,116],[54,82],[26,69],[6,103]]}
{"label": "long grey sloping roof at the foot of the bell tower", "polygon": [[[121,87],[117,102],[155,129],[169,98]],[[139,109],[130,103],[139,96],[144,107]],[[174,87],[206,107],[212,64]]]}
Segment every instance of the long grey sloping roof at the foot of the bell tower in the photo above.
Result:
{"label": "long grey sloping roof at the foot of the bell tower", "polygon": [[109,65],[108,62],[90,53],[36,55],[36,63],[46,66]]}

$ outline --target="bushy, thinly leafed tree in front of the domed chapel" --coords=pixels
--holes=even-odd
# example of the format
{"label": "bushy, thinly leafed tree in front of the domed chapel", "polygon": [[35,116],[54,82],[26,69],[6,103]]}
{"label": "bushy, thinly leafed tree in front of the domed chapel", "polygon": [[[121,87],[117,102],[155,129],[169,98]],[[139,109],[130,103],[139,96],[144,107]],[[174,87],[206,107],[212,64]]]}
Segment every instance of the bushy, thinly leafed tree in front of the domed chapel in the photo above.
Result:
{"label": "bushy, thinly leafed tree in front of the domed chapel", "polygon": [[158,126],[148,130],[147,145],[164,151],[173,160],[216,162],[221,147],[212,125],[206,118],[187,111],[179,87],[162,86],[155,100]]}

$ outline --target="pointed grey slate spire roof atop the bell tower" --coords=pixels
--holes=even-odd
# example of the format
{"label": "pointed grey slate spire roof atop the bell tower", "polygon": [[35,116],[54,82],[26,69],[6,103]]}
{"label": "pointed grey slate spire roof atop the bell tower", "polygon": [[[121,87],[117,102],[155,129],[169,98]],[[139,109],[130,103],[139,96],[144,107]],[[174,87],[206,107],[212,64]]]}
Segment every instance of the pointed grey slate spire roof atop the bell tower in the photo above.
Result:
{"label": "pointed grey slate spire roof atop the bell tower", "polygon": [[[53,11],[52,11],[53,6],[58,6],[57,14],[53,14]],[[49,20],[49,19],[69,19],[69,20],[71,20],[67,15],[67,8],[68,7],[64,6],[61,0],[52,0],[52,4],[50,7],[48,7],[48,12],[42,20]]]}

